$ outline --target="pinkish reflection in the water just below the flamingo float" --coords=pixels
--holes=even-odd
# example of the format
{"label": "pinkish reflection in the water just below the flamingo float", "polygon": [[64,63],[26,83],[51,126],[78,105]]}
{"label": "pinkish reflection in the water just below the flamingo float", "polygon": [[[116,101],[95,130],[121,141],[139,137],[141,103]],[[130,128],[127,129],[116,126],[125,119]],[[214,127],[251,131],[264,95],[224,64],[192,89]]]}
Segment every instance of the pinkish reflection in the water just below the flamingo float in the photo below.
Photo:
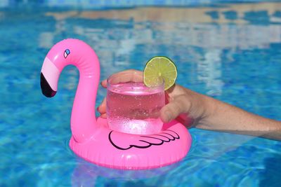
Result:
{"label": "pinkish reflection in the water just below the flamingo float", "polygon": [[179,163],[176,163],[157,169],[119,170],[93,165],[80,158],[77,158],[77,164],[72,174],[72,186],[95,186],[96,184],[115,186],[117,181],[122,182],[124,186],[129,184],[130,186],[150,186],[142,180],[164,176],[179,165]]}

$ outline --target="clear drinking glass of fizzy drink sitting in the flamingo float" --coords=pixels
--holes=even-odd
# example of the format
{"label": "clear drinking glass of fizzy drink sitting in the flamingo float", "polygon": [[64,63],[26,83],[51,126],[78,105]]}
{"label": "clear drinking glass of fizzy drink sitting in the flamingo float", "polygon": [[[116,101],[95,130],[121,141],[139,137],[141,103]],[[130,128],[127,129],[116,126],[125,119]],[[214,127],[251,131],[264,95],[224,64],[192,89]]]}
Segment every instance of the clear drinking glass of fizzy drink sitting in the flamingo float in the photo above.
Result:
{"label": "clear drinking glass of fizzy drink sitting in the flamingo float", "polygon": [[148,88],[139,72],[119,73],[107,79],[107,123],[112,130],[155,134],[162,130],[159,111],[165,104],[164,81]]}

